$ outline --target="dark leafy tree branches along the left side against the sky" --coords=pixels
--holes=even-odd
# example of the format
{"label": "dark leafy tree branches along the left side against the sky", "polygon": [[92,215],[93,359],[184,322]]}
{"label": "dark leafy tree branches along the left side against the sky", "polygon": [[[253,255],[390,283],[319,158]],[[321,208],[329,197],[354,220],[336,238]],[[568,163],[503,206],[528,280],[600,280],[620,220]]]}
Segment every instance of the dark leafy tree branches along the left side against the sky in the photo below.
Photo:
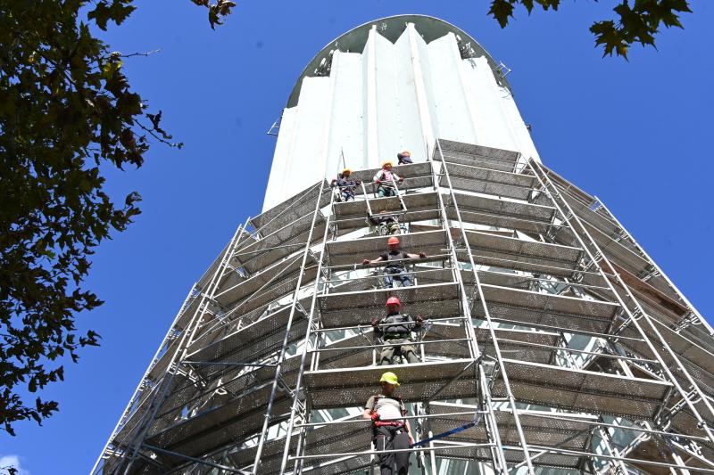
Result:
{"label": "dark leafy tree branches along the left side against the sky", "polygon": [[[205,7],[211,27],[235,6]],[[0,0],[0,428],[43,419],[57,403],[27,401],[63,378],[62,361],[97,345],[76,315],[102,304],[82,288],[95,247],[124,231],[140,196],[117,203],[100,166],[141,167],[151,143],[173,143],[95,37],[133,0]],[[131,54],[129,54],[131,55]]]}

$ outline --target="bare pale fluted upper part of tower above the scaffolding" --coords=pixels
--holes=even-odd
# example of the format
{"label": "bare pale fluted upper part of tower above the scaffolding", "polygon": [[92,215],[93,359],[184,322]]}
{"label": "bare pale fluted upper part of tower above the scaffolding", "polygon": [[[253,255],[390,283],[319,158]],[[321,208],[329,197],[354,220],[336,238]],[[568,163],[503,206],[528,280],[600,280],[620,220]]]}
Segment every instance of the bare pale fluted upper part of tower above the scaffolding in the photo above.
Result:
{"label": "bare pale fluted upper part of tower above the scaffolding", "polygon": [[376,20],[337,37],[290,94],[263,210],[345,164],[378,168],[405,149],[427,161],[436,137],[537,159],[507,71],[468,33],[432,17]]}

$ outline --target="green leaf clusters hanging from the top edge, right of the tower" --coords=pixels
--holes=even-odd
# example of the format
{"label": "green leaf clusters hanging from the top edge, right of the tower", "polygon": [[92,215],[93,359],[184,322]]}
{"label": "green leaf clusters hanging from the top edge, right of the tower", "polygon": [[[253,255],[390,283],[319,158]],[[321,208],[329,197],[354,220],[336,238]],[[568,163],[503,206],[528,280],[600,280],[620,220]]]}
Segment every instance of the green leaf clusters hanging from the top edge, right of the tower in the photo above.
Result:
{"label": "green leaf clusters hanging from the top edge, right of the tower", "polygon": [[[560,0],[492,0],[488,13],[505,28],[519,4],[530,14],[537,5],[544,10],[558,10]],[[625,59],[631,45],[654,46],[661,25],[681,29],[679,15],[692,12],[687,0],[619,0],[612,11],[615,20],[595,21],[590,31],[595,36],[595,45],[602,45],[603,56],[614,52]]]}

